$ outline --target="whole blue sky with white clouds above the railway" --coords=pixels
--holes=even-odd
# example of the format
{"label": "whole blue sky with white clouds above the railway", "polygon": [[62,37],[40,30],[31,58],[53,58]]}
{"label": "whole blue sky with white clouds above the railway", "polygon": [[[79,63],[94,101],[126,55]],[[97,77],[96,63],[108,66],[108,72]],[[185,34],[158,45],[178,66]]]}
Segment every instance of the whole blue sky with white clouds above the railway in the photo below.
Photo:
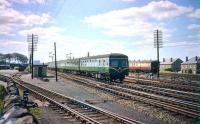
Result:
{"label": "whole blue sky with white clouds above the railway", "polygon": [[34,59],[123,53],[156,59],[200,56],[200,0],[0,0],[0,53],[29,56],[27,35],[38,35]]}

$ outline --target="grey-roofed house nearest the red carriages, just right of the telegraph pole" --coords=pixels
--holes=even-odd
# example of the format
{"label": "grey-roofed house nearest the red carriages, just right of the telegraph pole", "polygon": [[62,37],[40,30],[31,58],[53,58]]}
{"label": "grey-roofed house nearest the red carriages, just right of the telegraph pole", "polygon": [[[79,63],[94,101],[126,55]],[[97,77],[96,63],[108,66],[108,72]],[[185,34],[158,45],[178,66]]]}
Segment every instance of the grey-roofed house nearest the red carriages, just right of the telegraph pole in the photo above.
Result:
{"label": "grey-roofed house nearest the red carriages, just right of the telegraph pole", "polygon": [[160,63],[160,71],[172,71],[172,72],[178,72],[181,70],[181,63],[183,61],[179,58],[169,58],[165,59],[163,58],[163,61]]}

